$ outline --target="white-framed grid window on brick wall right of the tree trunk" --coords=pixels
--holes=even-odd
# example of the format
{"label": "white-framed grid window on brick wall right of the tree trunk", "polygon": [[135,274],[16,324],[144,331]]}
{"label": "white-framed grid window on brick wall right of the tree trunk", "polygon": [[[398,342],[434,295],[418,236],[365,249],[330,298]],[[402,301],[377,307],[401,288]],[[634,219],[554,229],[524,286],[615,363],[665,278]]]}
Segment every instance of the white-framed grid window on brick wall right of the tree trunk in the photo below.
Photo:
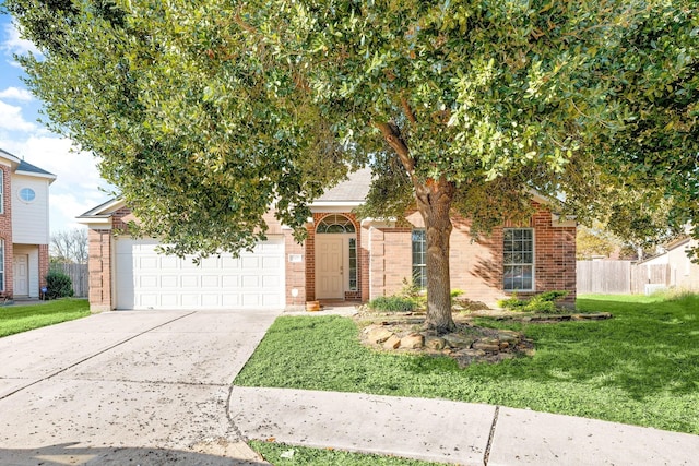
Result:
{"label": "white-framed grid window on brick wall right of the tree trunk", "polygon": [[503,232],[502,263],[506,291],[534,289],[534,230],[508,228]]}

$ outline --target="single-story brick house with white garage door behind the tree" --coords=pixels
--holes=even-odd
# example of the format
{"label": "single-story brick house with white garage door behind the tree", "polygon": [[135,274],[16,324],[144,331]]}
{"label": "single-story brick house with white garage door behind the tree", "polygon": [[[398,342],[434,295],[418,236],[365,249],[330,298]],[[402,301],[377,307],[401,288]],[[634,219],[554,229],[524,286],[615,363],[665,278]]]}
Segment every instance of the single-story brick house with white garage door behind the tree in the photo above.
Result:
{"label": "single-story brick house with white garage door behind the tree", "polygon": [[[111,309],[254,309],[296,307],[309,300],[367,301],[399,292],[404,282],[425,282],[422,217],[394,222],[358,219],[370,170],[351,175],[312,205],[308,237],[297,244],[288,227],[268,214],[268,240],[239,259],[161,255],[153,239],[115,235],[133,219],[120,200],[86,212],[90,227],[90,302]],[[546,290],[576,295],[576,223],[559,222],[534,196],[536,213],[524,225],[505,225],[474,241],[469,222],[453,218],[451,286],[472,300],[495,304],[511,296]]]}

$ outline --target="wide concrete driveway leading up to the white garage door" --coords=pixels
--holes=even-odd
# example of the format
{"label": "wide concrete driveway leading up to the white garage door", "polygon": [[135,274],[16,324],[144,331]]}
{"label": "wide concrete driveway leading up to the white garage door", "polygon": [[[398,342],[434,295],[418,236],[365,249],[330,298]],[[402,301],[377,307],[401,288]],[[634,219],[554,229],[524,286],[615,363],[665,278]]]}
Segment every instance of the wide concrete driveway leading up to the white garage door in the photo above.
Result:
{"label": "wide concrete driveway leading up to the white garage door", "polygon": [[279,313],[119,311],[0,338],[0,464],[256,464],[230,382]]}

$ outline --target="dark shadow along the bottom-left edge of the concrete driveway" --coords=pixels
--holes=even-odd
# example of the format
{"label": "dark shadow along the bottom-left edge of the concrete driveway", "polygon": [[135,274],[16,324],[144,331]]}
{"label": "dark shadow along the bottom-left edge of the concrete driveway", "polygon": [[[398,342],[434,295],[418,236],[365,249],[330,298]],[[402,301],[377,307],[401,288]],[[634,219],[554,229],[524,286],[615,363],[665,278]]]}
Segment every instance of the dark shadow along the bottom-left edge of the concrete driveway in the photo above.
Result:
{"label": "dark shadow along the bottom-left edge of the concrete driveway", "polygon": [[75,446],[79,442],[46,445],[36,449],[0,447],[0,464],[13,466],[59,465],[126,465],[142,466],[257,466],[262,461],[236,459],[229,456],[164,449]]}

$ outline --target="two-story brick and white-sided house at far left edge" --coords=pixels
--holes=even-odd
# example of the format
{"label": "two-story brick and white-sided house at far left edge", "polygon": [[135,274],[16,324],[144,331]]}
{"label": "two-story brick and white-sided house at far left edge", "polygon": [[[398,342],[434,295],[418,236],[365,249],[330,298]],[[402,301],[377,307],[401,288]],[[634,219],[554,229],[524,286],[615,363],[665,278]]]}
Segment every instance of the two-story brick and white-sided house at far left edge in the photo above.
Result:
{"label": "two-story brick and white-sided house at far left edge", "polygon": [[39,298],[48,273],[48,189],[56,180],[0,148],[0,292]]}

